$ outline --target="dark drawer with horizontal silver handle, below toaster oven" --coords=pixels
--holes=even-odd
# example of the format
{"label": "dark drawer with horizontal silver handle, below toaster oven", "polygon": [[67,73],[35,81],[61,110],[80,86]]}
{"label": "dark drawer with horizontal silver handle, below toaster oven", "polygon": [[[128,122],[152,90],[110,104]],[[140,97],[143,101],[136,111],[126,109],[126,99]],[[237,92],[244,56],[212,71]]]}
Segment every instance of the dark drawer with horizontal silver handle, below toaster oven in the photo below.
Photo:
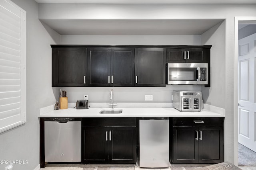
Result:
{"label": "dark drawer with horizontal silver handle, below toaster oven", "polygon": [[223,126],[224,117],[175,117],[173,126]]}

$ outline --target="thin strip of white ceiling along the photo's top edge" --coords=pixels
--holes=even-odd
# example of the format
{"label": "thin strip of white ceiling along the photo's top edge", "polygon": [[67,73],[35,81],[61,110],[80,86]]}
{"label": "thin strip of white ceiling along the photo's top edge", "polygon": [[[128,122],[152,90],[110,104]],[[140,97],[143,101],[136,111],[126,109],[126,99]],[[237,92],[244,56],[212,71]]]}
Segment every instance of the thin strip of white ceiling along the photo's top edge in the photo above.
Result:
{"label": "thin strip of white ceiling along the photo's top edge", "polygon": [[256,0],[35,0],[38,3],[78,4],[256,4]]}

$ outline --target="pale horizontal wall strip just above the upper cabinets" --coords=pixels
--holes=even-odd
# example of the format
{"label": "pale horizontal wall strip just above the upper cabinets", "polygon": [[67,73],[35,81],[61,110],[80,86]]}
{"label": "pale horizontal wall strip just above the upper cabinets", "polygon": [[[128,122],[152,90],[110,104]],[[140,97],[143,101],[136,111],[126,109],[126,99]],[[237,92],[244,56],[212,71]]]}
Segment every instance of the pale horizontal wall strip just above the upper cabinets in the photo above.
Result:
{"label": "pale horizontal wall strip just above the upper cabinets", "polygon": [[200,35],[61,35],[61,44],[201,45]]}

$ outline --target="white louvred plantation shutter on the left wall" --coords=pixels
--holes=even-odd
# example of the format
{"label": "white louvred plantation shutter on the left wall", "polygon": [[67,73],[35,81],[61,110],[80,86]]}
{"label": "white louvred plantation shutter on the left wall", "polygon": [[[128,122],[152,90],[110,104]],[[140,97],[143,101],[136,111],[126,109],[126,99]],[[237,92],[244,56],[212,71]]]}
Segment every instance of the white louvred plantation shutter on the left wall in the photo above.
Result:
{"label": "white louvred plantation shutter on the left wall", "polygon": [[0,133],[26,122],[26,11],[0,0]]}

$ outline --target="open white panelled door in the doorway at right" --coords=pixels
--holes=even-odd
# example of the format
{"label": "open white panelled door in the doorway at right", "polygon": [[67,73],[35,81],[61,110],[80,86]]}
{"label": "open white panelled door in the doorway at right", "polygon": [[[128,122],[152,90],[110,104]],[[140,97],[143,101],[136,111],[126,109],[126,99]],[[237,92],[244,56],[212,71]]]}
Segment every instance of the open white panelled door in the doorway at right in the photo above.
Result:
{"label": "open white panelled door in the doorway at right", "polygon": [[238,41],[238,143],[256,152],[256,33]]}

